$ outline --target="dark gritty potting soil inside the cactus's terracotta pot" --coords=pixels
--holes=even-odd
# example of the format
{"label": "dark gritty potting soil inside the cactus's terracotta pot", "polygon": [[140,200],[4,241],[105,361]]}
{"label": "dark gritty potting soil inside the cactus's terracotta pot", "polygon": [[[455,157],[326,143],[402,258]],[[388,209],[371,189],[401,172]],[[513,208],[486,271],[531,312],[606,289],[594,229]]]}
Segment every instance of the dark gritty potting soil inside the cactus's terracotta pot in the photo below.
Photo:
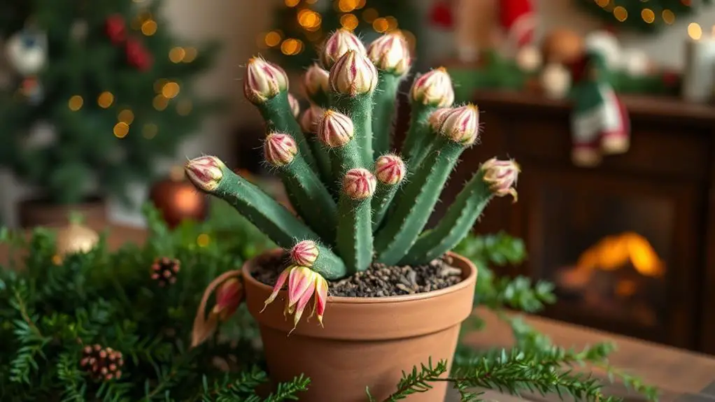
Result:
{"label": "dark gritty potting soil inside the cactus's terracotta pot", "polygon": [[[252,272],[254,278],[274,286],[280,273],[287,267],[287,254],[265,256]],[[452,258],[445,256],[420,266],[386,266],[373,263],[370,268],[348,278],[328,281],[330,296],[383,297],[403,296],[436,291],[462,281],[462,271],[451,266]]]}

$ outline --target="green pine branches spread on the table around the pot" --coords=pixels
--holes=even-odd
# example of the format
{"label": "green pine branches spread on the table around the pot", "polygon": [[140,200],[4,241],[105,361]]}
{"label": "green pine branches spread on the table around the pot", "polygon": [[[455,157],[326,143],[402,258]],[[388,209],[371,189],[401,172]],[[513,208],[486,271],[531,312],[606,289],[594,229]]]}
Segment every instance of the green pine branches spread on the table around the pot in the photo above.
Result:
{"label": "green pine branches spread on the table around the pot", "polygon": [[[0,265],[0,400],[20,401],[244,401],[299,400],[310,386],[301,376],[265,390],[257,327],[244,308],[211,341],[188,348],[194,312],[204,287],[223,271],[272,247],[260,232],[222,201],[212,206],[206,223],[184,223],[169,231],[159,213],[146,208],[151,236],[144,246],[127,244],[110,252],[102,243],[83,255],[59,261],[53,233],[36,229],[29,238],[2,231],[1,241],[16,251],[13,262]],[[197,236],[211,241],[199,246]],[[202,242],[202,245],[204,243]],[[513,350],[475,351],[461,345],[450,373],[447,362],[425,362],[404,373],[395,393],[398,401],[423,392],[435,381],[449,381],[463,401],[480,401],[479,389],[509,393],[558,393],[583,401],[611,401],[602,383],[572,366],[608,368],[613,346],[599,344],[583,351],[553,346],[504,308],[538,311],[553,302],[551,286],[526,278],[508,280],[485,268],[518,263],[523,243],[503,233],[470,237],[458,252],[480,263],[477,301],[511,323]],[[177,258],[177,282],[160,288],[149,267],[157,257]],[[466,323],[465,333],[480,328]],[[122,377],[94,381],[80,361],[84,346],[99,344],[124,354]],[[369,368],[366,368],[369,369]],[[649,398],[653,388],[613,371]],[[476,389],[475,389],[476,388]],[[366,390],[366,401],[374,401]]]}

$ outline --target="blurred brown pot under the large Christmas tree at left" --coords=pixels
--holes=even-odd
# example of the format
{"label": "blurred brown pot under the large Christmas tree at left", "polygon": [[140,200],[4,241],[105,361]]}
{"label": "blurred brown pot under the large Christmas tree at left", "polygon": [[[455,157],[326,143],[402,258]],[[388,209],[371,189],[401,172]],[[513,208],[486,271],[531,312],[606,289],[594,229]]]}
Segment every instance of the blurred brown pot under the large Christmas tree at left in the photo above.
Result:
{"label": "blurred brown pot under the large Christmas tree at left", "polygon": [[57,205],[43,199],[20,201],[19,224],[23,228],[34,226],[64,226],[69,223],[72,211],[80,213],[87,226],[102,227],[107,223],[107,203],[99,197],[89,197],[82,203]]}

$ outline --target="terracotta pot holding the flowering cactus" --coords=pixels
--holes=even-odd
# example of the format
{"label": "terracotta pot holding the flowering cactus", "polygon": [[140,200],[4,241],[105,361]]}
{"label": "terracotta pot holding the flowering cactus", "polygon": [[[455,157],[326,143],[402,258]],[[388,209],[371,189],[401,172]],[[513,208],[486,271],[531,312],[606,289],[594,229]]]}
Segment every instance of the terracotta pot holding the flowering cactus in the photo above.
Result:
{"label": "terracotta pot holding the flowering cactus", "polygon": [[[450,288],[408,296],[350,298],[330,296],[320,328],[301,321],[290,336],[292,320],[283,316],[286,291],[260,313],[271,288],[250,275],[260,258],[243,266],[246,303],[260,326],[268,370],[273,381],[288,381],[301,373],[310,377],[307,402],[365,402],[365,387],[377,401],[397,389],[403,371],[448,359],[451,363],[460,323],[472,311],[477,268],[450,253],[464,280]],[[443,401],[448,384],[439,382],[410,402]]]}

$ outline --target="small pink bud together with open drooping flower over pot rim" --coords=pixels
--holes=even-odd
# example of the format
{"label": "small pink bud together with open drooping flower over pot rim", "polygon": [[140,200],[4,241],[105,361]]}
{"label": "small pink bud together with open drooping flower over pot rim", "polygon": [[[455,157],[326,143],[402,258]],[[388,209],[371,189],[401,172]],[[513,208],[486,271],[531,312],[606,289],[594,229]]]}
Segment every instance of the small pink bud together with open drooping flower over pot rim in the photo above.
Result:
{"label": "small pink bud together with open drooping flower over pot rim", "polygon": [[322,316],[327,303],[327,281],[320,273],[310,269],[317,261],[318,255],[315,241],[305,240],[297,243],[290,251],[292,265],[280,273],[270,297],[265,301],[265,306],[275,301],[280,290],[287,285],[288,300],[285,303],[285,313],[294,314],[293,329],[298,325],[311,299],[313,299],[313,308],[310,316],[315,314],[318,323],[322,326]]}

